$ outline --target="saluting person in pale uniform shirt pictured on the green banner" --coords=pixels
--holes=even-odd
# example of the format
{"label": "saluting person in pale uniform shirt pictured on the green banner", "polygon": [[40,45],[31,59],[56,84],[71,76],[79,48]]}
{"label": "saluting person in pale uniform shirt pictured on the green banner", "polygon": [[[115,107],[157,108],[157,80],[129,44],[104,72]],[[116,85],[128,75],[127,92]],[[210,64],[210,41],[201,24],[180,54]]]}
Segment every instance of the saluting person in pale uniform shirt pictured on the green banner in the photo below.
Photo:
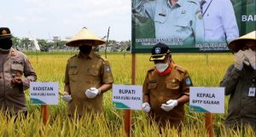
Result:
{"label": "saluting person in pale uniform shirt pictured on the green banner", "polygon": [[203,43],[204,24],[197,1],[155,0],[137,7],[137,13],[154,20],[156,38],[177,39],[186,46]]}

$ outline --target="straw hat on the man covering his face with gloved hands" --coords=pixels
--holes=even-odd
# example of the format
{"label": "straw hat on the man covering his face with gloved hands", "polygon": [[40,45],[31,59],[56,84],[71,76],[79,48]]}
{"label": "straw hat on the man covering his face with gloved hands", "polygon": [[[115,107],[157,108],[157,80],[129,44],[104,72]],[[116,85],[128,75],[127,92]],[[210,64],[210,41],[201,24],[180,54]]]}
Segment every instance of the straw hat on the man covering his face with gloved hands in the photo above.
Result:
{"label": "straw hat on the man covering his face with gloved hands", "polygon": [[230,42],[230,44],[228,46],[233,52],[238,52],[240,49],[243,48],[243,46],[244,46],[243,43],[246,40],[256,41],[256,31],[249,32],[244,36],[241,36],[241,37],[238,37],[238,38],[234,39],[233,41]]}

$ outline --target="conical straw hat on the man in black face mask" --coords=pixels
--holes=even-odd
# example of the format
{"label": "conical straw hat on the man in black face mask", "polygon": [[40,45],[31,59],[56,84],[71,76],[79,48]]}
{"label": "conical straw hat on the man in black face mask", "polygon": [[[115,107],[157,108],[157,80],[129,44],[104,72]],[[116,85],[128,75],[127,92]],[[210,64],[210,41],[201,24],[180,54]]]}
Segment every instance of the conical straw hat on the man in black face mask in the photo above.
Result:
{"label": "conical straw hat on the man in black face mask", "polygon": [[96,37],[94,33],[84,27],[70,41],[66,43],[70,47],[79,47],[82,45],[97,46],[105,43],[100,37]]}

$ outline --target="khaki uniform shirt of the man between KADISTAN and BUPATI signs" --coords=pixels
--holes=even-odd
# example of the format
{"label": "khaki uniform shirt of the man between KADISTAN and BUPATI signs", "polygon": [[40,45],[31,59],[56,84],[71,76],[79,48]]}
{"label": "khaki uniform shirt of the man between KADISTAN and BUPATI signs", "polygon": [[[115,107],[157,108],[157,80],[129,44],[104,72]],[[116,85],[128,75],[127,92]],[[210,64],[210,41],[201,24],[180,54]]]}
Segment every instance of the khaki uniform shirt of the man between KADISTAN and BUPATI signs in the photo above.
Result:
{"label": "khaki uniform shirt of the man between KADISTAN and BUPATI signs", "polygon": [[92,51],[87,59],[79,54],[74,55],[67,61],[65,83],[69,84],[73,98],[67,104],[68,115],[73,115],[75,111],[79,116],[82,116],[84,111],[101,113],[103,94],[89,99],[84,93],[86,89],[100,88],[104,83],[113,83],[108,60]]}

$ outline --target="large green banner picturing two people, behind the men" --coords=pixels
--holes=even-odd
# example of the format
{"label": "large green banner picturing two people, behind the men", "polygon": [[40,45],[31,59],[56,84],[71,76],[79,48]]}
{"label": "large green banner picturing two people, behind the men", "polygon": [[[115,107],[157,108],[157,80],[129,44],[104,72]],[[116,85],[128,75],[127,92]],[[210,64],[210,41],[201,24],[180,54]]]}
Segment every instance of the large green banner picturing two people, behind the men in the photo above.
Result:
{"label": "large green banner picturing two people, behind the men", "polygon": [[256,28],[255,0],[132,0],[131,52],[166,43],[172,53],[230,52],[227,44]]}

